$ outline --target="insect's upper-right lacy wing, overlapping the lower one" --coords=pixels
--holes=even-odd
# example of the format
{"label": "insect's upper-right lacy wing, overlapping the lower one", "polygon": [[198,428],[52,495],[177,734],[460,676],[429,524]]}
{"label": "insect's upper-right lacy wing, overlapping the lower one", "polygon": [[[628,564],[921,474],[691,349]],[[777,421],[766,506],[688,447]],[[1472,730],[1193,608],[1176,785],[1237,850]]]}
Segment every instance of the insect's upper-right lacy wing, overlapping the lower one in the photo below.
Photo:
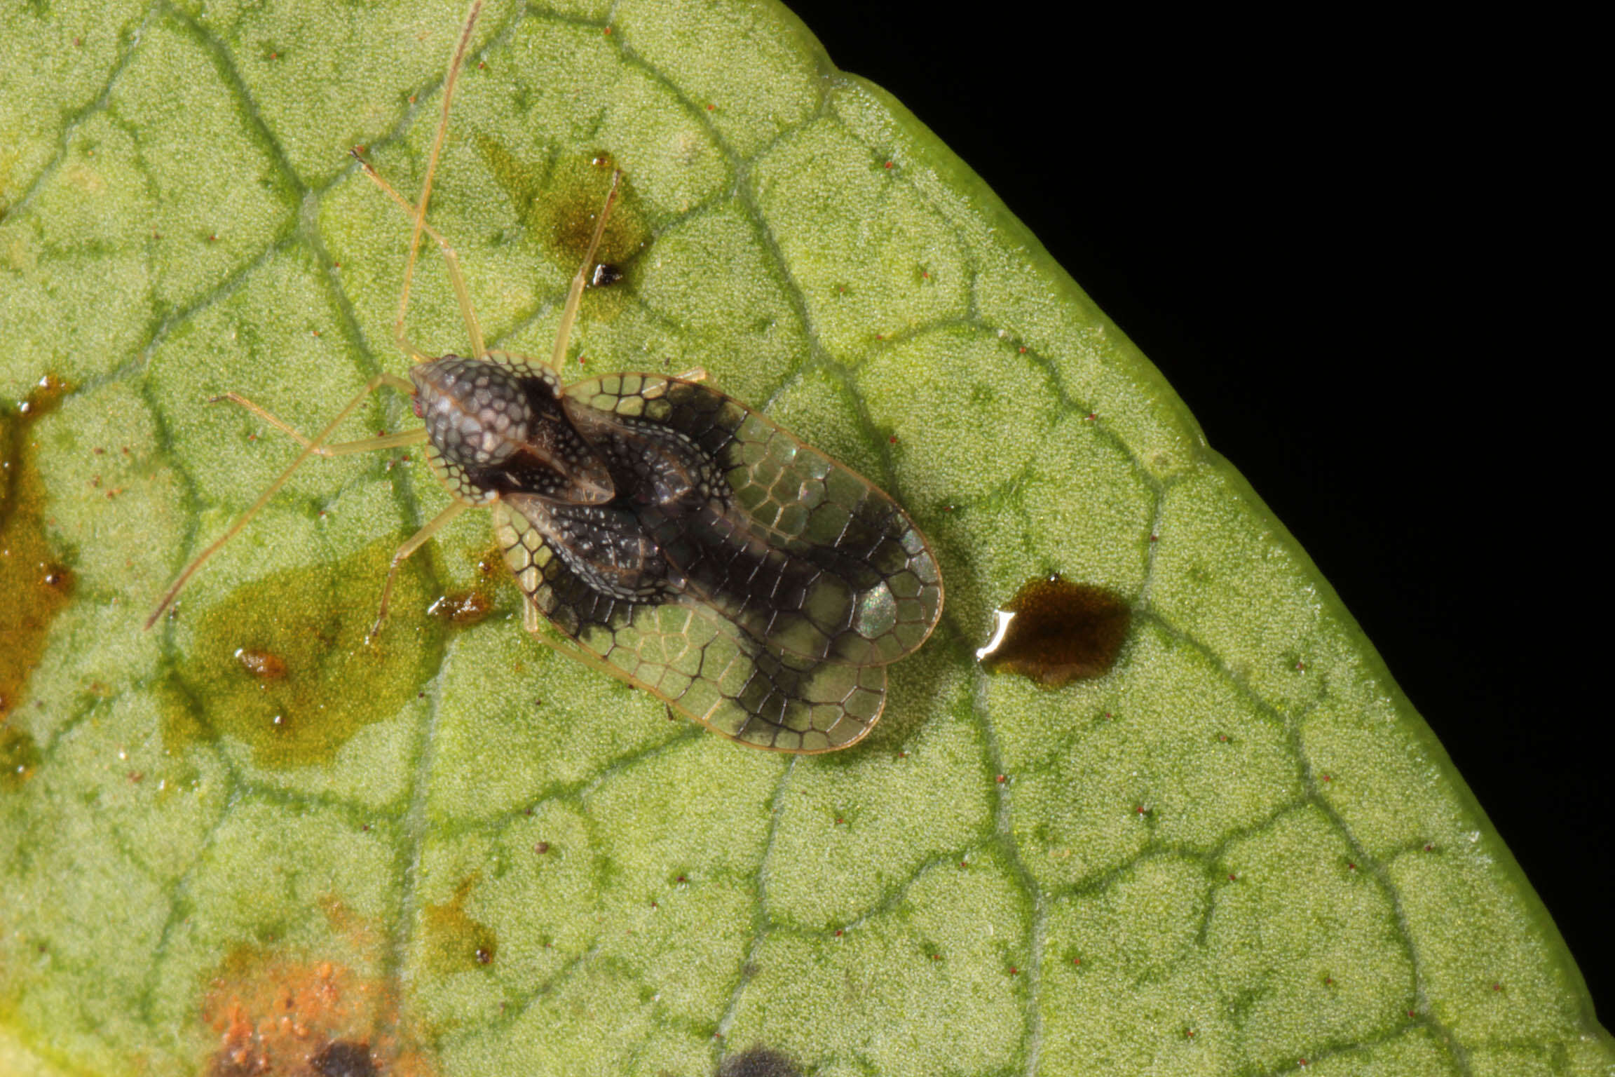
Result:
{"label": "insect's upper-right lacy wing, overlapping the lower one", "polygon": [[568,410],[614,475],[648,454],[683,465],[688,492],[662,496],[672,483],[657,475],[657,504],[641,512],[683,593],[808,659],[887,664],[930,635],[935,559],[858,473],[703,384],[614,375],[567,397],[586,404]]}

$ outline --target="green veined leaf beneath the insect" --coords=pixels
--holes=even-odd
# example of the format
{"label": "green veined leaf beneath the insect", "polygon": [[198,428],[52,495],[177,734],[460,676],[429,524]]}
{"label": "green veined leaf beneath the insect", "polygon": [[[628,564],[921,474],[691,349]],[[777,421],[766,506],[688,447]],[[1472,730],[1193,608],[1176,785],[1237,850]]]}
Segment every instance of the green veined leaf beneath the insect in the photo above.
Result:
{"label": "green veined leaf beneath the insect", "polygon": [[[294,455],[208,397],[317,430],[405,368],[409,223],[346,150],[418,191],[462,15],[5,16],[0,1071],[1609,1069],[1305,554],[774,5],[494,3],[431,218],[494,346],[546,355],[609,155],[625,276],[568,376],[706,367],[912,512],[948,607],[862,744],[746,751],[543,649],[480,513],[363,649],[447,504],[418,454],[308,463],[142,631]],[[430,250],[409,333],[465,347]],[[380,394],[339,436],[409,421]],[[992,610],[1050,572],[1132,604],[1116,667],[984,673]]]}

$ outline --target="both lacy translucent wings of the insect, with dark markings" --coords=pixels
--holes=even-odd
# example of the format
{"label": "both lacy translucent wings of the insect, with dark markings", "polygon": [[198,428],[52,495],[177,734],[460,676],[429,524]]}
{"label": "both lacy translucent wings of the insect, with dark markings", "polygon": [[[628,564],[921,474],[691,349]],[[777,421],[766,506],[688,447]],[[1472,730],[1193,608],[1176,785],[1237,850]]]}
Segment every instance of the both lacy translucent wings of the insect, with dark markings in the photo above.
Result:
{"label": "both lacy translucent wings of the insect, with dark markings", "polygon": [[830,751],[885,704],[885,665],[942,612],[924,538],[869,481],[706,386],[567,389],[606,504],[507,491],[505,560],[586,660],[759,748]]}

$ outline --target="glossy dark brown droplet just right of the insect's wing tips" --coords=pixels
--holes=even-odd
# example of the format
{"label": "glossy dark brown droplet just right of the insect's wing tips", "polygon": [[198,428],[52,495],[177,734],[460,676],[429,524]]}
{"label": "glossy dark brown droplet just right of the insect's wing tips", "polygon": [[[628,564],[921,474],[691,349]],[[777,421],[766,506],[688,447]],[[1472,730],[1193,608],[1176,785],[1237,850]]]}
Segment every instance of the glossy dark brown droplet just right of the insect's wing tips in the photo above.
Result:
{"label": "glossy dark brown droplet just right of the insect's wing tips", "polygon": [[988,668],[1059,688],[1110,672],[1130,618],[1127,604],[1103,588],[1059,576],[1032,580],[998,610],[995,639],[975,657]]}

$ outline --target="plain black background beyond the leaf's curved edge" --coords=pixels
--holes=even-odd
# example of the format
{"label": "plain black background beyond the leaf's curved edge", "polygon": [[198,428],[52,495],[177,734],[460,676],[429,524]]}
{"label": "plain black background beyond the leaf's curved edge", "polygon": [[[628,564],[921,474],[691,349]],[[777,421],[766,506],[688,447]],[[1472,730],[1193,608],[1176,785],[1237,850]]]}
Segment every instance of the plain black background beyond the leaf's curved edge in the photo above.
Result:
{"label": "plain black background beyond the leaf's curved edge", "polygon": [[1578,686],[1607,660],[1579,622],[1607,591],[1584,383],[1610,349],[1565,328],[1579,210],[1529,27],[791,8],[998,192],[1300,539],[1609,1019],[1609,709]]}

